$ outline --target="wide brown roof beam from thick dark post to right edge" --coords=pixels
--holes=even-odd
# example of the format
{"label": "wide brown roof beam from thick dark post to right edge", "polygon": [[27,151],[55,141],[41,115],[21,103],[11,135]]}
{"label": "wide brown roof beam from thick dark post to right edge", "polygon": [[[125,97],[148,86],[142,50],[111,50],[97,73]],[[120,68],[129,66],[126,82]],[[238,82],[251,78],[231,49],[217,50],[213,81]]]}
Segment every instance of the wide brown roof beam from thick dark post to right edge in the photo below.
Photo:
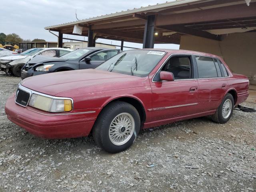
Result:
{"label": "wide brown roof beam from thick dark post to right edge", "polygon": [[256,2],[253,2],[250,3],[250,6],[244,3],[180,14],[158,15],[156,18],[156,26],[252,17],[256,16],[255,10]]}

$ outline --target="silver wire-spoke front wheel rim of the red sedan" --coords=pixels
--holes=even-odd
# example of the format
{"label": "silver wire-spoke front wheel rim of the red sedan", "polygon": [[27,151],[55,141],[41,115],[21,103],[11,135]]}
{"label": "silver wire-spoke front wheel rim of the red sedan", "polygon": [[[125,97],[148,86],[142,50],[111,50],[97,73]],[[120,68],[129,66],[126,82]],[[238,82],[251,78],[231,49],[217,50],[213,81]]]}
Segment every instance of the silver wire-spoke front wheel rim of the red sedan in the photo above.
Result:
{"label": "silver wire-spoke front wheel rim of the red sedan", "polygon": [[109,127],[110,141],[115,145],[125,144],[132,137],[134,128],[134,118],[129,113],[118,114]]}

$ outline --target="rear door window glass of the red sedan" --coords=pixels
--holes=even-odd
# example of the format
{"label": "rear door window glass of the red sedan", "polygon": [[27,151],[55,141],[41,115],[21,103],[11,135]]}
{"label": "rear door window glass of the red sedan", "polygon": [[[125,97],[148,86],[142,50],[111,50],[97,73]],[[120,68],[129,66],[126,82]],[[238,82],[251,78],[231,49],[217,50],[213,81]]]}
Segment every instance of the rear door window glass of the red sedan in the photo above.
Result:
{"label": "rear door window glass of the red sedan", "polygon": [[210,57],[196,56],[198,78],[218,77],[215,63]]}

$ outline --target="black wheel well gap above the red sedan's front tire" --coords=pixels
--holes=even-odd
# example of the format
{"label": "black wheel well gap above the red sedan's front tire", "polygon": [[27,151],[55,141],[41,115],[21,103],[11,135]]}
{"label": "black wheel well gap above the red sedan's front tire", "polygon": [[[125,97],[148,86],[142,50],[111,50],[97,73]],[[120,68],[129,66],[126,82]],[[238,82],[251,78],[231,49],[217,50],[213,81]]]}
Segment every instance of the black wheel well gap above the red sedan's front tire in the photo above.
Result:
{"label": "black wheel well gap above the red sedan's front tire", "polygon": [[[146,112],[145,112],[144,107],[140,101],[138,101],[135,98],[131,98],[131,97],[121,97],[121,98],[116,98],[116,99],[110,101],[108,104],[115,102],[115,101],[123,101],[123,102],[129,103],[132,106],[134,106],[140,115],[141,124],[143,124],[145,122]],[[105,106],[107,106],[108,104],[106,104]]]}

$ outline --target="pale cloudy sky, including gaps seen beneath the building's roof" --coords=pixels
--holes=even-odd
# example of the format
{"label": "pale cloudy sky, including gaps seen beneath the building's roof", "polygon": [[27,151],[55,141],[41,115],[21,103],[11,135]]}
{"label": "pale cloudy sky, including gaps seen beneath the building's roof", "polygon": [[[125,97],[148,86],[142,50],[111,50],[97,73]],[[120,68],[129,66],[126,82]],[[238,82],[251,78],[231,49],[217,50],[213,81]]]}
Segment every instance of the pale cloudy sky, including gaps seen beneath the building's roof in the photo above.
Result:
{"label": "pale cloudy sky, including gaps seen beneath the building's roof", "polygon": [[[23,39],[57,41],[44,27],[164,3],[166,0],[1,0],[0,32],[16,33]],[[87,37],[63,35],[87,40]],[[64,42],[67,40],[64,40]],[[96,42],[120,45],[120,41],[98,39]],[[124,46],[142,48],[142,44],[124,42]],[[155,48],[178,49],[179,45],[156,44]]]}

